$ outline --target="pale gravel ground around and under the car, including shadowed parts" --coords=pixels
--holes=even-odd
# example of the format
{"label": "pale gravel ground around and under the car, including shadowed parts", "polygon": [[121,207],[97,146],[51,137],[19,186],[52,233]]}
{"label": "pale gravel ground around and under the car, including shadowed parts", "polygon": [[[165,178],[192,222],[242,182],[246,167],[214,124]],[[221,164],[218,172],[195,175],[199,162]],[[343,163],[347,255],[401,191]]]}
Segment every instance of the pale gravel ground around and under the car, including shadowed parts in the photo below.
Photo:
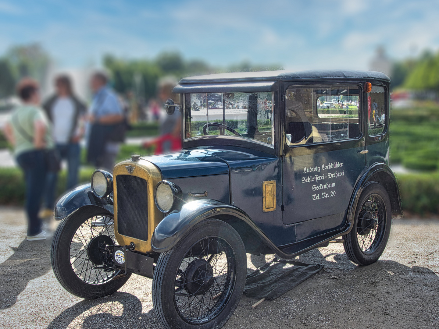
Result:
{"label": "pale gravel ground around and under the car, including shadowed parts", "polygon": [[[133,275],[117,293],[82,300],[67,293],[49,264],[50,241],[27,242],[22,210],[0,207],[0,318],[3,328],[162,328],[151,279]],[[223,328],[438,328],[439,220],[393,219],[375,264],[351,263],[340,243],[298,259],[323,271],[277,300],[242,297]],[[256,268],[273,255],[248,255]]]}

